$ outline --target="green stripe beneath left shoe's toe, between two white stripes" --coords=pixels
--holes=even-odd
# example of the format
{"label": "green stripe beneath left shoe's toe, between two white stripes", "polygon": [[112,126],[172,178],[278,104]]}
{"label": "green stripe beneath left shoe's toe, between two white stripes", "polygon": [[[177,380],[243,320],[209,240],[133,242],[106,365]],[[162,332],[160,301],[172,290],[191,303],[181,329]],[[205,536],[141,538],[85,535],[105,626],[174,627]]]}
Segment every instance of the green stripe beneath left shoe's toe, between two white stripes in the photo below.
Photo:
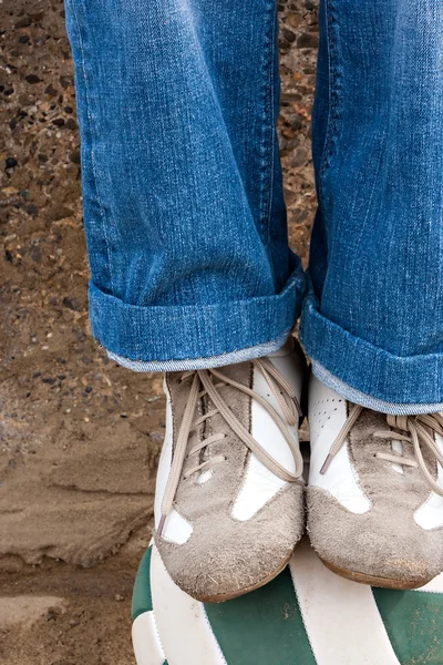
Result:
{"label": "green stripe beneath left shoe's toe, between two white stripes", "polygon": [[205,608],[228,665],[316,665],[288,567],[253,593]]}

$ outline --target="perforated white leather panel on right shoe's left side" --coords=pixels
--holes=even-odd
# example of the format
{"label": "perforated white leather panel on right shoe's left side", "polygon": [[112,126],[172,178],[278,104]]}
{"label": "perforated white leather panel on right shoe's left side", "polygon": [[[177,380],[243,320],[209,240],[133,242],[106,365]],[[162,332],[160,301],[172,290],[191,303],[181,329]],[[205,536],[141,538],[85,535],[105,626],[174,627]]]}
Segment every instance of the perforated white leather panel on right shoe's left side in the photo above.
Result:
{"label": "perforated white leather panel on right shoe's left side", "polygon": [[311,439],[309,484],[329,492],[349,511],[362,514],[370,510],[371,502],[358,482],[357,471],[349,458],[348,446],[343,446],[336,454],[327,472],[320,473],[329,449],[346,420],[346,400],[311,376],[309,386]]}

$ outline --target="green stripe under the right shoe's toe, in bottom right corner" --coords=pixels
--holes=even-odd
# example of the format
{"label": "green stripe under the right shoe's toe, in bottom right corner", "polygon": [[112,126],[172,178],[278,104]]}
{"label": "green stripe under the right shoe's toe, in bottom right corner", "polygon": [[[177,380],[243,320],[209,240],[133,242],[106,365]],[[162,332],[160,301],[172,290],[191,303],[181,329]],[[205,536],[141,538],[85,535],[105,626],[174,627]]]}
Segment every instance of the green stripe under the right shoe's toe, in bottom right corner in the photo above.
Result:
{"label": "green stripe under the right shoe's toe, in bottom right corner", "polygon": [[443,595],[372,590],[392,647],[402,665],[442,665]]}

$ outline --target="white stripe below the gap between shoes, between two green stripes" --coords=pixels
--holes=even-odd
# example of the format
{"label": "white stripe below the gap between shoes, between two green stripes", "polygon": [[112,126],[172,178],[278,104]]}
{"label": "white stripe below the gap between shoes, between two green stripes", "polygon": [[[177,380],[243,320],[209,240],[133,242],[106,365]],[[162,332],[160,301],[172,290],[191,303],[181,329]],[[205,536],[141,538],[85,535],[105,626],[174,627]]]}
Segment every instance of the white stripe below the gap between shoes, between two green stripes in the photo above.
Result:
{"label": "white stripe below the gap between shoes, between two green stripes", "polygon": [[328,571],[307,540],[290,572],[318,665],[400,665],[370,586]]}

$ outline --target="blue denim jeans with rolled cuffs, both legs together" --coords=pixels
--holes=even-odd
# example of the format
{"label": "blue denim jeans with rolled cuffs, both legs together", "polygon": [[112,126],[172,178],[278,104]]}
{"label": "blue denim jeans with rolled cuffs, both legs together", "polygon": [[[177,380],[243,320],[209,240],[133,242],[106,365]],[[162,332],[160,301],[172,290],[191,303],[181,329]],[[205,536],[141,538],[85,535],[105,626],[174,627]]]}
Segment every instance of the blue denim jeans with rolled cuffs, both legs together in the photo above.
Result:
{"label": "blue denim jeans with rolled cuffs, both legs together", "polygon": [[356,402],[443,408],[443,6],[323,0],[308,275],[288,247],[275,0],[66,0],[94,336],[138,370],[269,354],[302,309]]}

